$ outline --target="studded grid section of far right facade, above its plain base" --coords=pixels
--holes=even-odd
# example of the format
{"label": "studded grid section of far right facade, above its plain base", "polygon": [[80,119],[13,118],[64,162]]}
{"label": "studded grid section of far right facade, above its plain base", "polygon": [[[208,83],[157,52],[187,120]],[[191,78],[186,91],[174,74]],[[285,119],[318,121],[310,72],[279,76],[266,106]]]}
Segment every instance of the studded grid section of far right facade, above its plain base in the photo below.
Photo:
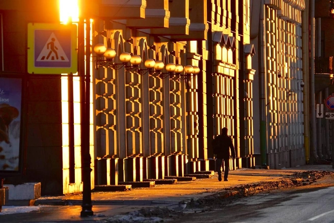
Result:
{"label": "studded grid section of far right facade, above its plain base", "polygon": [[265,9],[268,153],[303,148],[301,24],[277,13]]}

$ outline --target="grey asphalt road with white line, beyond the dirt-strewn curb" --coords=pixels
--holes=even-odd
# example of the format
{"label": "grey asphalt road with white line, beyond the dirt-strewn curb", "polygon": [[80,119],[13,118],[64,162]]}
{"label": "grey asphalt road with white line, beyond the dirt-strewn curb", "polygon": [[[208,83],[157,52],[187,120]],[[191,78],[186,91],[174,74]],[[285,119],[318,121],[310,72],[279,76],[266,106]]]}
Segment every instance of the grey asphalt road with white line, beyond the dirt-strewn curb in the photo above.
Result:
{"label": "grey asphalt road with white line, beyond the dirt-strewn curb", "polygon": [[334,222],[334,180],[259,193],[176,222]]}

